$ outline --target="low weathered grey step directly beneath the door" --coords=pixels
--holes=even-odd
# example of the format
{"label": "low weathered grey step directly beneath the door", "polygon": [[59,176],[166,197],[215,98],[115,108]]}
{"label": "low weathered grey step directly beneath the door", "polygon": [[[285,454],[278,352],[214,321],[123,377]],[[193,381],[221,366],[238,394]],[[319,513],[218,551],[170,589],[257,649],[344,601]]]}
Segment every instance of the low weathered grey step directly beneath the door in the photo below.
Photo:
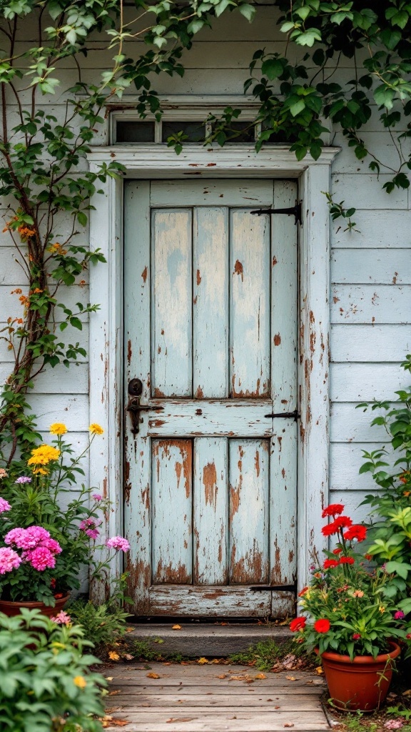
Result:
{"label": "low weathered grey step directly beneath the door", "polygon": [[[227,657],[246,651],[259,641],[272,639],[284,643],[292,637],[287,625],[270,626],[245,624],[176,623],[181,630],[173,630],[174,623],[129,624],[128,638],[145,641],[159,654],[181,654],[186,657]],[[161,639],[162,643],[159,643]]]}

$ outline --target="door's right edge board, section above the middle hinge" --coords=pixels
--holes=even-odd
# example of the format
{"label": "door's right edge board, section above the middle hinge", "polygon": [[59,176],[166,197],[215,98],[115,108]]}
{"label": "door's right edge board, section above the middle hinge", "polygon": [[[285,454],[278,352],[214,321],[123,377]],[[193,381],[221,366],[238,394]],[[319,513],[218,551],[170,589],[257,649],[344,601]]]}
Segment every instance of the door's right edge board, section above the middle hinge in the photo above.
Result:
{"label": "door's right edge board, section above the middle hinge", "polygon": [[[293,206],[297,184],[274,181],[274,208]],[[297,256],[298,228],[293,216],[271,223],[271,394],[274,412],[297,406]]]}

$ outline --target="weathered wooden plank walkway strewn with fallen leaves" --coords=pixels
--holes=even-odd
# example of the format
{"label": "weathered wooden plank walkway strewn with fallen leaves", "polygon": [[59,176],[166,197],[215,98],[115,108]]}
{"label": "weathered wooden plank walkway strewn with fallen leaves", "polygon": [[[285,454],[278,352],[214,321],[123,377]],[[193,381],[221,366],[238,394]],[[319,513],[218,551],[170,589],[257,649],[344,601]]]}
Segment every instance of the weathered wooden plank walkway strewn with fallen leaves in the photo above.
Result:
{"label": "weathered wooden plank walkway strewn with fallen leaves", "polygon": [[325,683],[306,671],[264,674],[234,665],[150,663],[119,664],[105,676],[110,730],[321,732],[330,728],[320,701]]}

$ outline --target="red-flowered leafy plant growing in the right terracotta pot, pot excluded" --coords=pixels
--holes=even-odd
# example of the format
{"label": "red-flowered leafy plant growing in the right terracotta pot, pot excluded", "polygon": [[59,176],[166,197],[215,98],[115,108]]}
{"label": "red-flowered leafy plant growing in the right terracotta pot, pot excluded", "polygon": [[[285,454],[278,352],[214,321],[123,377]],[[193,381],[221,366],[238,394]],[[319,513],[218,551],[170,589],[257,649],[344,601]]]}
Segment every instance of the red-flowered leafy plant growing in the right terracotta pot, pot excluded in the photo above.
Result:
{"label": "red-flowered leafy plant growing in the right terracotta pot, pot excluded", "polygon": [[382,568],[367,569],[371,557],[356,550],[366,539],[366,527],[353,524],[343,510],[342,504],[323,510],[323,518],[331,518],[323,534],[336,537],[336,548],[325,550],[323,566],[312,567],[309,586],[299,593],[299,605],[308,618],[295,618],[290,630],[309,651],[337,651],[351,660],[376,657],[388,650],[392,638],[408,637],[400,627],[404,613],[387,593],[390,575]]}

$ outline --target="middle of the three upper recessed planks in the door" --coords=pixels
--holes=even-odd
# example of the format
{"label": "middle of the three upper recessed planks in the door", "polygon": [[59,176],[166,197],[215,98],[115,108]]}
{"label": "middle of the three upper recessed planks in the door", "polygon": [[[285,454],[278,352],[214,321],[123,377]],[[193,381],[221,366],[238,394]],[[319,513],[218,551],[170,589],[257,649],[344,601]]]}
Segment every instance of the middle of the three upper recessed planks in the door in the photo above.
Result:
{"label": "middle of the three upper recessed planks in the door", "polygon": [[193,392],[228,396],[228,209],[197,208],[193,220]]}

